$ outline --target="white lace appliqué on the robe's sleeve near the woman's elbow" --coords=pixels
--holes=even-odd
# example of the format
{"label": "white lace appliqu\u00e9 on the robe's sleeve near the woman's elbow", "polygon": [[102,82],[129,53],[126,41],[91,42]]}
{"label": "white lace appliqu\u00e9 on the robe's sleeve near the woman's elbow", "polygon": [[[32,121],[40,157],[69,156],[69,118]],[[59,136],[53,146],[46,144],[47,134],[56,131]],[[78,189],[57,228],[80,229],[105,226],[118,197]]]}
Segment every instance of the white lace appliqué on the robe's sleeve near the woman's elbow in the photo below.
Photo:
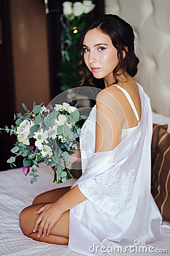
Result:
{"label": "white lace appliqu\u00e9 on the robe's sleeve near the woman's elbow", "polygon": [[[120,164],[99,176],[80,183],[83,194],[104,212],[116,216],[129,201],[134,184],[134,171],[119,172]],[[109,181],[109,182],[108,182]]]}

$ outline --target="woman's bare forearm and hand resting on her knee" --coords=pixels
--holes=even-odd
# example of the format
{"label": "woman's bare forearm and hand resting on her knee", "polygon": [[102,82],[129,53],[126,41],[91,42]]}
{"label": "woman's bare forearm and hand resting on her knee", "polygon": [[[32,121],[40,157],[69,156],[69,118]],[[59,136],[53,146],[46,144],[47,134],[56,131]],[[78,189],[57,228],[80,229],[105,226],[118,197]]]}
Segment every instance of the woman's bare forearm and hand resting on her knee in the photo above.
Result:
{"label": "woman's bare forearm and hand resting on her knee", "polygon": [[44,237],[48,236],[63,213],[85,200],[87,197],[80,192],[78,185],[75,185],[55,203],[46,204],[37,210],[36,214],[39,214],[39,217],[35,221],[33,232],[38,232],[38,237],[42,233]]}

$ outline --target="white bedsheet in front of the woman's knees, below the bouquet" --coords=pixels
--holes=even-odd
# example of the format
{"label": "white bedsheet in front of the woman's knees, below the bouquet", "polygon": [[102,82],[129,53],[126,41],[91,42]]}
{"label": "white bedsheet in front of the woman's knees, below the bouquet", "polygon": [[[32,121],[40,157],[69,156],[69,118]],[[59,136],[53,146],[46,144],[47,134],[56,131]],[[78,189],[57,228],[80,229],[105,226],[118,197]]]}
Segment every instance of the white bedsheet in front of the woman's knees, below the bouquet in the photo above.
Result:
{"label": "white bedsheet in front of the woman's knees, below the bouquet", "polygon": [[72,179],[63,184],[53,183],[53,172],[44,164],[40,165],[39,174],[37,182],[30,184],[31,177],[25,177],[22,168],[0,172],[0,255],[80,255],[71,253],[67,246],[33,241],[20,230],[19,213],[32,203],[36,195],[72,185],[75,181]]}

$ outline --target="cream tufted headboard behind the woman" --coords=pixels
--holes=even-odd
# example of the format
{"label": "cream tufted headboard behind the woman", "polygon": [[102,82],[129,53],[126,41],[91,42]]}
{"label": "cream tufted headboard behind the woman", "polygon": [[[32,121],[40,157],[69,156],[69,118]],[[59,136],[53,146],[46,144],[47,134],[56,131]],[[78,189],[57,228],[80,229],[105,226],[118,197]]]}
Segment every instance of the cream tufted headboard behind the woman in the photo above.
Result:
{"label": "cream tufted headboard behind the woman", "polygon": [[150,96],[152,110],[170,117],[170,1],[105,0],[105,13],[133,27],[140,59],[135,79]]}

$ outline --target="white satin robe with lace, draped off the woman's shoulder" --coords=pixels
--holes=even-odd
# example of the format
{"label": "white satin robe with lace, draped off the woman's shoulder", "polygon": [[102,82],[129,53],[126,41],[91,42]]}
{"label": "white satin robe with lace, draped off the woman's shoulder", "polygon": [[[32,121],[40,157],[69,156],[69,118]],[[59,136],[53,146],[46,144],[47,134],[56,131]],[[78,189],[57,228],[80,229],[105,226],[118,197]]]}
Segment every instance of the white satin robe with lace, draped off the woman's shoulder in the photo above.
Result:
{"label": "white satin robe with lace, draped off the woman's shoulder", "polygon": [[[170,227],[160,227],[162,218],[150,192],[150,99],[141,85],[138,84],[138,88],[141,122],[129,131],[126,129],[127,135],[124,134],[124,139],[121,138],[114,150],[95,153],[96,106],[82,127],[83,175],[74,185],[78,184],[87,200],[70,209],[68,246],[69,250],[82,255],[112,255],[109,246],[121,246],[126,251],[124,255],[137,255],[139,246],[147,246],[147,250],[154,246],[154,249],[147,253],[143,249],[145,253],[138,255],[168,255],[153,253],[156,248],[168,247],[170,253]],[[135,248],[125,248],[130,245]]]}

